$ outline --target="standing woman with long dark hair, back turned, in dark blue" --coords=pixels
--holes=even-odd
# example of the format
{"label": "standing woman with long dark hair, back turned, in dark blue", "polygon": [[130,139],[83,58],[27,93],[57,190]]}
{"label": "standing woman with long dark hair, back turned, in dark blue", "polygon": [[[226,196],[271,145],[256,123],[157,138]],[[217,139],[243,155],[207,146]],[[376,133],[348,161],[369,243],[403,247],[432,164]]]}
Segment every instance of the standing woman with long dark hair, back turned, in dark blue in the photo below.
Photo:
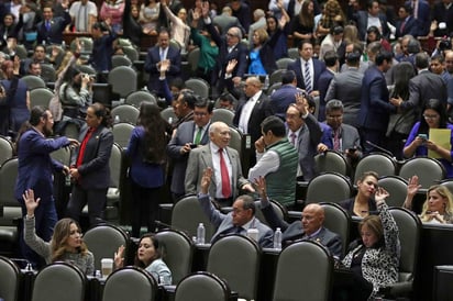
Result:
{"label": "standing woman with long dark hair, back turned, in dark blue", "polygon": [[166,145],[170,125],[159,108],[142,102],[137,126],[132,131],[126,155],[131,158],[132,236],[140,236],[142,222],[148,232],[155,230],[158,192],[165,182]]}

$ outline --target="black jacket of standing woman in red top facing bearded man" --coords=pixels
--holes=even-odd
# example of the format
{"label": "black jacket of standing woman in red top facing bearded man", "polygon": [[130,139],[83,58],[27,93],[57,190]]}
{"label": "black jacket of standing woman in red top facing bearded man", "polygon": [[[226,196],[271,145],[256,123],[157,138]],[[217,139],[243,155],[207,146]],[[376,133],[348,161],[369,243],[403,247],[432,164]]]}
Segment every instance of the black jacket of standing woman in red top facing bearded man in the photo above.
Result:
{"label": "black jacket of standing woman in red top facing bearded man", "polygon": [[[88,126],[85,124],[80,130],[79,141],[82,142],[87,135]],[[113,134],[108,127],[99,125],[85,147],[81,165],[77,167],[80,179],[78,183],[82,189],[103,189],[110,185],[110,154],[113,146]],[[80,148],[73,153],[71,166],[77,163]]]}

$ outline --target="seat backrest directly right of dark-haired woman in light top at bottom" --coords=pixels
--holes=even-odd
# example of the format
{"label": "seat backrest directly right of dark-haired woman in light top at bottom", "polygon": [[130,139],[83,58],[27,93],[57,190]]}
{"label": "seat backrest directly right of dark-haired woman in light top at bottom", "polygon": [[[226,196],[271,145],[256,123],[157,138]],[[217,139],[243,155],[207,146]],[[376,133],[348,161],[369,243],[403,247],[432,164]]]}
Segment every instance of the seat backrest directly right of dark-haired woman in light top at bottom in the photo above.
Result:
{"label": "seat backrest directly right of dark-haired woman in light top at bottom", "polygon": [[162,230],[156,233],[163,259],[172,271],[173,283],[190,274],[194,258],[194,243],[185,233],[176,230]]}

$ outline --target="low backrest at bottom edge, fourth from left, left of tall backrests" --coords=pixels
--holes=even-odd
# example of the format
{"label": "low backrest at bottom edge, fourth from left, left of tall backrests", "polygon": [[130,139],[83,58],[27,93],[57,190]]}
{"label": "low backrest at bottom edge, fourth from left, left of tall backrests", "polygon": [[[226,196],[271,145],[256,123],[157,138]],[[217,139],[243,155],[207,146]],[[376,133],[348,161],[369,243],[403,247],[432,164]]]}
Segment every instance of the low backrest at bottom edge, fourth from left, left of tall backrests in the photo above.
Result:
{"label": "low backrest at bottom edge, fourth from left, left of tall backrests", "polygon": [[206,271],[184,278],[175,291],[175,301],[228,301],[231,290],[226,282]]}

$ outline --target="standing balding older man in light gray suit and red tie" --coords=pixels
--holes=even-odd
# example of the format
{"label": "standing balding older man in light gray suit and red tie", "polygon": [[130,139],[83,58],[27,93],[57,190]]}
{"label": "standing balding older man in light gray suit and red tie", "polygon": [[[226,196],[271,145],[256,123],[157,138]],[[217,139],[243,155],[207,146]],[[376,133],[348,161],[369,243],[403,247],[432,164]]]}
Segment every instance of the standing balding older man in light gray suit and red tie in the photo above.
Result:
{"label": "standing balding older man in light gray suit and red tie", "polygon": [[209,127],[210,143],[192,149],[187,163],[186,193],[200,191],[201,177],[209,167],[213,170],[213,181],[209,194],[220,205],[231,205],[240,190],[254,192],[252,185],[242,176],[237,150],[229,147],[230,127],[223,122],[214,122]]}

